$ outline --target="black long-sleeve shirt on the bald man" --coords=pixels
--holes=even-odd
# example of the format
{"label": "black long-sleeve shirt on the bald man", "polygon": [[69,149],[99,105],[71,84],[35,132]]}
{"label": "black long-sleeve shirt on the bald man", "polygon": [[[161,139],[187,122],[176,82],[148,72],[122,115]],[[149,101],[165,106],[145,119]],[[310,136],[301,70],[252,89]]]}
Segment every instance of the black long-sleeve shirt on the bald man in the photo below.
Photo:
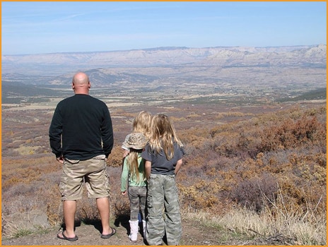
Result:
{"label": "black long-sleeve shirt on the bald man", "polygon": [[110,155],[114,145],[112,119],[105,102],[77,94],[57,104],[49,127],[56,157],[90,159]]}

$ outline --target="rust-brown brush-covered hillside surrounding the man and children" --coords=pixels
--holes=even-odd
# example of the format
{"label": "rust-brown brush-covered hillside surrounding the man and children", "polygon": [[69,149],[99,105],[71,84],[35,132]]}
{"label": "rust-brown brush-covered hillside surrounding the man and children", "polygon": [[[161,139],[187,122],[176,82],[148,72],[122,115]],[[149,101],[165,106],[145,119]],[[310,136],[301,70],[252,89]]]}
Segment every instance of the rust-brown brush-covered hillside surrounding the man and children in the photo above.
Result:
{"label": "rust-brown brush-covered hillside surrounding the man and children", "polygon": [[[25,243],[45,243],[48,238],[50,243],[58,243],[54,232],[62,218],[57,187],[61,168],[49,150],[47,138],[54,105],[3,108],[4,243],[17,245],[28,234],[33,236],[28,236]],[[239,107],[165,102],[110,107],[115,148],[107,169],[112,188],[112,220],[118,222],[117,227],[124,225],[122,219],[129,212],[127,198],[119,195],[120,143],[131,129],[131,119],[141,109],[168,114],[185,143],[187,155],[177,176],[180,205],[186,232],[194,231],[194,227],[199,231],[184,235],[184,243],[231,245],[237,240],[238,245],[267,244],[264,240],[271,239],[271,244],[276,245],[326,244],[325,102]],[[44,212],[49,227],[56,229],[42,241],[31,229],[8,222],[16,213],[36,209]],[[97,218],[93,201],[81,200],[77,219],[90,222]],[[86,232],[93,228],[88,225]],[[124,228],[119,229],[118,236],[124,236]],[[210,229],[221,236],[219,243],[210,239]],[[44,234],[47,231],[42,230]],[[5,240],[13,236],[22,238]],[[117,238],[113,241],[119,241]]]}

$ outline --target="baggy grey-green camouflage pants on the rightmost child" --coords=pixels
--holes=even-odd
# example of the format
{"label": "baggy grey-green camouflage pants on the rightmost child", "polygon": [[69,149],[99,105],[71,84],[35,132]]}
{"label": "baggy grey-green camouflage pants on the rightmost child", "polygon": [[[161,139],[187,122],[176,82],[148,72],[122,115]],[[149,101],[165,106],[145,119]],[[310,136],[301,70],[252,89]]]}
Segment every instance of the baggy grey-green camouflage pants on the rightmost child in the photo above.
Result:
{"label": "baggy grey-green camouflage pants on the rightmost child", "polygon": [[147,208],[148,244],[151,246],[162,244],[165,233],[169,246],[179,244],[182,225],[175,175],[151,174],[148,183]]}

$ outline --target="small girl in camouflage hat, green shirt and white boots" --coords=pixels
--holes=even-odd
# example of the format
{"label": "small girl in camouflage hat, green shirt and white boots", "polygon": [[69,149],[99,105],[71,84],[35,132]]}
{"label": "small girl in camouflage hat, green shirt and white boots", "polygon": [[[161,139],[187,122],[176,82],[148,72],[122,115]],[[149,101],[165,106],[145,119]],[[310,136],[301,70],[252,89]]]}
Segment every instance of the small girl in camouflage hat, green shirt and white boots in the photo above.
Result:
{"label": "small girl in camouflage hat, green shirt and white boots", "polygon": [[143,133],[131,133],[127,142],[123,145],[129,147],[129,154],[124,159],[121,176],[121,193],[127,194],[127,185],[130,200],[130,234],[129,239],[136,241],[139,227],[139,204],[141,206],[141,215],[143,219],[144,237],[146,231],[146,195],[147,181],[144,167],[144,159],[141,158],[141,152],[148,139]]}

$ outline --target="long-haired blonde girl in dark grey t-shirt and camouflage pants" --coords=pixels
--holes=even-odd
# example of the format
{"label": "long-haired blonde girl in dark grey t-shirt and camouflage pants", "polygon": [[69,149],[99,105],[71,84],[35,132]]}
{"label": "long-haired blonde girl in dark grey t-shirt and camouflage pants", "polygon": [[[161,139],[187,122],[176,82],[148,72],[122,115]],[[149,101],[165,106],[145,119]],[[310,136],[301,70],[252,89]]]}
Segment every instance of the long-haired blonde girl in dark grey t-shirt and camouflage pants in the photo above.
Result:
{"label": "long-haired blonde girl in dark grey t-shirt and camouflage pants", "polygon": [[148,245],[163,245],[165,233],[168,246],[177,245],[181,239],[182,226],[175,176],[182,165],[183,155],[183,145],[168,116],[153,116],[150,140],[141,153],[141,157],[146,160],[148,180]]}

